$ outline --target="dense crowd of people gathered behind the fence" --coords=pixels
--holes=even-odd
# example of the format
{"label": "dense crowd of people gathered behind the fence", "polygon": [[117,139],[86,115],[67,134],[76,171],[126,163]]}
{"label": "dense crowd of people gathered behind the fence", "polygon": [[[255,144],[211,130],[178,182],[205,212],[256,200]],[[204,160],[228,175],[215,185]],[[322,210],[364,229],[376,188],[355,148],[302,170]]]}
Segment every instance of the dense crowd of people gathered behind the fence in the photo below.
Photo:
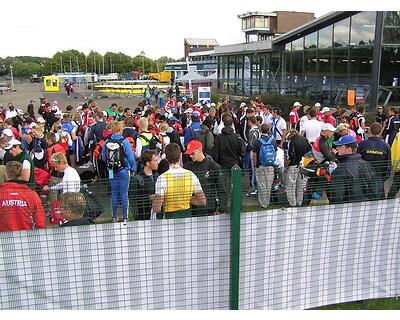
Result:
{"label": "dense crowd of people gathered behind the fence", "polygon": [[361,105],[295,102],[285,119],[258,97],[235,106],[229,97],[194,103],[172,88],[163,94],[148,88],[133,109],[45,98],[26,111],[1,108],[0,231],[44,228],[49,216],[61,226],[92,223],[77,171],[88,163],[109,183],[113,221],[123,223],[228,212],[235,166],[263,208],[273,193],[295,207],[324,192],[344,203],[393,198],[400,188],[395,108],[379,107],[368,125]]}

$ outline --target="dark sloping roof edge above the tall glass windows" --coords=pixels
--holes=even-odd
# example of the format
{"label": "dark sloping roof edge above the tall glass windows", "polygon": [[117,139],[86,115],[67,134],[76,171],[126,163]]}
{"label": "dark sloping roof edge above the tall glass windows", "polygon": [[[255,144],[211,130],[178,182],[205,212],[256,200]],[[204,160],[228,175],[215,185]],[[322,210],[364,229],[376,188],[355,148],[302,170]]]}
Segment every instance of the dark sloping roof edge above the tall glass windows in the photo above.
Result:
{"label": "dark sloping roof edge above the tall glass windows", "polygon": [[322,29],[334,22],[343,20],[347,17],[350,17],[360,11],[332,11],[329,12],[328,14],[319,17],[315,20],[312,20],[310,22],[307,22],[300,27],[297,27],[293,30],[290,30],[289,32],[284,33],[283,35],[276,37],[275,39],[272,40],[272,44],[282,44],[282,43],[287,43],[292,40],[296,40],[297,38],[300,38],[306,34],[312,33],[314,31],[317,31],[319,29]]}

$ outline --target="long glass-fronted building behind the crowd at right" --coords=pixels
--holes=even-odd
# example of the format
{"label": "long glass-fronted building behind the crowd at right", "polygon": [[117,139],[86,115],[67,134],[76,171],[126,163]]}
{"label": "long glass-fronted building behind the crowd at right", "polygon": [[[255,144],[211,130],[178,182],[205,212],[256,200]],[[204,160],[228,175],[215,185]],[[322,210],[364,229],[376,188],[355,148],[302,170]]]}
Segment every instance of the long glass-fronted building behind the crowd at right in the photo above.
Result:
{"label": "long glass-fronted building behind the crowd at right", "polygon": [[271,40],[215,47],[219,91],[400,105],[400,11],[332,12]]}

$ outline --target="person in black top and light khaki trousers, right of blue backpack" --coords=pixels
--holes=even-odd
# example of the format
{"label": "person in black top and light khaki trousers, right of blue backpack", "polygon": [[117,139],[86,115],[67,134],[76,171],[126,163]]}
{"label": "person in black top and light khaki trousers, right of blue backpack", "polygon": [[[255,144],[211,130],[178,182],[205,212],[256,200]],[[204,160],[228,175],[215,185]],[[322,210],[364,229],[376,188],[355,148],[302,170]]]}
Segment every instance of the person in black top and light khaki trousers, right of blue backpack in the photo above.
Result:
{"label": "person in black top and light khaki trousers, right of blue backpack", "polygon": [[303,156],[310,151],[310,144],[307,139],[295,129],[287,134],[288,153],[286,170],[286,195],[292,207],[301,206],[303,203],[304,188],[307,184],[307,177],[300,172],[300,162]]}

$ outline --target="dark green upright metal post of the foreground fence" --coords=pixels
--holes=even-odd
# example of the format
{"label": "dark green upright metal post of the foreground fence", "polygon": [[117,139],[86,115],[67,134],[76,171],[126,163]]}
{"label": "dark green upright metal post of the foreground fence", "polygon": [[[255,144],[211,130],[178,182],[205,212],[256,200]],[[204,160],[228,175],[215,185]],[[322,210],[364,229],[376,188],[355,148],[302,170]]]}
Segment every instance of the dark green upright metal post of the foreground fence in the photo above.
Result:
{"label": "dark green upright metal post of the foreground fence", "polygon": [[232,168],[231,195],[231,254],[229,279],[229,309],[239,308],[239,253],[240,253],[240,211],[242,209],[242,169]]}

